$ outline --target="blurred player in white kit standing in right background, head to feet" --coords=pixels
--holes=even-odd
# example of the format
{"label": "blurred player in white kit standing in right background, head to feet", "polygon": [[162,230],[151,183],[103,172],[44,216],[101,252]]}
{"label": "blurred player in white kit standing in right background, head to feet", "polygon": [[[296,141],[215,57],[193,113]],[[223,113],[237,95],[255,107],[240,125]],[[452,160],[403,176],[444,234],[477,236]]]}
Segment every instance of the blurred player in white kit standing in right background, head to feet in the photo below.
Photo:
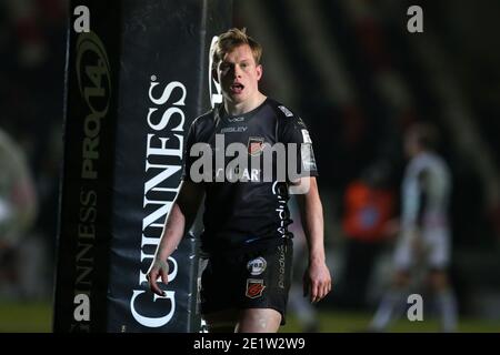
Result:
{"label": "blurred player in white kit standing in right background, head to feet", "polygon": [[401,314],[409,286],[419,271],[428,276],[441,331],[454,332],[457,328],[457,301],[448,276],[451,178],[446,162],[434,150],[437,141],[434,126],[427,123],[412,125],[404,136],[404,150],[410,161],[402,182],[402,216],[393,258],[394,276],[370,324],[371,331],[384,331]]}

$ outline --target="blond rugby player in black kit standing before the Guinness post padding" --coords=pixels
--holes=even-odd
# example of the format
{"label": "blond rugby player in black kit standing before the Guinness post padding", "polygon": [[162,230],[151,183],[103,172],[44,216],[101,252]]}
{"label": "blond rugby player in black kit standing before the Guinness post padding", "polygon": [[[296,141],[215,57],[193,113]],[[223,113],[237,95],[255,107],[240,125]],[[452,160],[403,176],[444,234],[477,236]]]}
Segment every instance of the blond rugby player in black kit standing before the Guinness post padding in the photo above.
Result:
{"label": "blond rugby player in black kit standing before the Guinness post padding", "polygon": [[[212,75],[223,102],[190,128],[183,181],[148,272],[151,291],[162,295],[157,280],[168,283],[167,258],[191,226],[204,196],[201,250],[208,264],[201,277],[200,306],[210,332],[277,332],[284,324],[292,266],[290,191],[300,193],[309,246],[304,293],[316,303],[331,290],[309,131],[299,116],[259,91],[261,54],[261,45],[244,30],[220,34],[212,51]],[[293,144],[296,150],[289,150]],[[228,153],[230,146],[244,149],[239,150],[238,166],[231,165],[229,158],[236,154]],[[269,152],[274,156],[281,146],[284,159],[264,158]],[[213,160],[212,153],[226,153],[222,168],[220,155]],[[293,162],[301,173],[279,179]]]}

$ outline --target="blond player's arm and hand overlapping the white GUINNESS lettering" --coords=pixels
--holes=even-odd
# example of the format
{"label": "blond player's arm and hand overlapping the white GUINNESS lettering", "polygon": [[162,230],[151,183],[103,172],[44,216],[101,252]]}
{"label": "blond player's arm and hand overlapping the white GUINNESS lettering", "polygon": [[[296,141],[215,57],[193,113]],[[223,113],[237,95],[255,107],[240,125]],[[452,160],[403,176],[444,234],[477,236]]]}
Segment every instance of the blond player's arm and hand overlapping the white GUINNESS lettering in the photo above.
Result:
{"label": "blond player's arm and hand overlapping the white GUINNESS lettering", "polygon": [[197,216],[198,207],[203,197],[203,187],[190,181],[181,183],[179,193],[173,201],[172,209],[167,216],[163,232],[154,253],[153,262],[147,273],[149,287],[162,296],[163,291],[158,286],[157,280],[161,277],[163,284],[168,283],[169,267],[167,260],[176,251],[186,227],[190,227]]}

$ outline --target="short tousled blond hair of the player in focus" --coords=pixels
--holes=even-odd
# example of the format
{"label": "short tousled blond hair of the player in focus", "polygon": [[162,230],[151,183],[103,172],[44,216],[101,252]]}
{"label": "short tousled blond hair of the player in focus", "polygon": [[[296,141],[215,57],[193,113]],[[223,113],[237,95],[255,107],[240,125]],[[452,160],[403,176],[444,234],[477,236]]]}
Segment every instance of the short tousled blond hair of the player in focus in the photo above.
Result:
{"label": "short tousled blond hair of the player in focus", "polygon": [[247,29],[242,30],[232,28],[227,32],[219,36],[216,45],[212,50],[212,68],[217,68],[219,62],[224,58],[227,53],[234,48],[248,44],[252,51],[256,65],[260,64],[260,58],[262,57],[262,47],[247,33]]}

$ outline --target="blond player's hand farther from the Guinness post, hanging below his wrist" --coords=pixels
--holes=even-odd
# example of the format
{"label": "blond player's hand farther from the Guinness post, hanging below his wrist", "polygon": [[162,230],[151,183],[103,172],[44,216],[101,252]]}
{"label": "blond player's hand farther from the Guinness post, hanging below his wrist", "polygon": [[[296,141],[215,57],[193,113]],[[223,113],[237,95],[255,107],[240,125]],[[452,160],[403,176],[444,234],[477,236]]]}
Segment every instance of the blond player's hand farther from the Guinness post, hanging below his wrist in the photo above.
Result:
{"label": "blond player's hand farther from the Guinness post, hanging below his wrist", "polygon": [[330,271],[324,262],[311,262],[303,274],[303,295],[311,303],[321,301],[331,291]]}

